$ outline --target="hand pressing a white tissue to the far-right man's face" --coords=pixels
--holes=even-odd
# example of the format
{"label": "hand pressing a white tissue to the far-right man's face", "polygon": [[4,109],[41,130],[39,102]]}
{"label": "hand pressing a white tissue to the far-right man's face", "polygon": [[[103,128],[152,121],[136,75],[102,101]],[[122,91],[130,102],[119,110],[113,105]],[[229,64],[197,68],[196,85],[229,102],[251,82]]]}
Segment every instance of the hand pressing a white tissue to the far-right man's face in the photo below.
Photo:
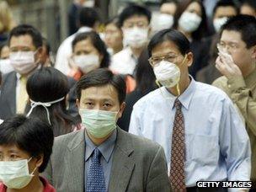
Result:
{"label": "hand pressing a white tissue to the far-right man's face", "polygon": [[243,76],[241,70],[232,60],[232,56],[225,52],[219,52],[219,56],[216,58],[216,68],[227,79],[231,77]]}

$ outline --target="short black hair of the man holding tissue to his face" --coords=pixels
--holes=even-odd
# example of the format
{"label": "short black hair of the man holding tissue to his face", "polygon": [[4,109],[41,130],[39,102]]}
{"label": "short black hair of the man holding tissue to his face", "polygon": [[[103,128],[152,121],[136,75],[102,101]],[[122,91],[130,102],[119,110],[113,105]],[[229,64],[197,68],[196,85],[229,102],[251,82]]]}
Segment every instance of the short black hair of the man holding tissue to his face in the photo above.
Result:
{"label": "short black hair of the man holding tissue to his face", "polygon": [[256,19],[253,16],[238,14],[228,19],[226,24],[223,24],[221,35],[223,30],[233,30],[240,33],[247,48],[256,45]]}

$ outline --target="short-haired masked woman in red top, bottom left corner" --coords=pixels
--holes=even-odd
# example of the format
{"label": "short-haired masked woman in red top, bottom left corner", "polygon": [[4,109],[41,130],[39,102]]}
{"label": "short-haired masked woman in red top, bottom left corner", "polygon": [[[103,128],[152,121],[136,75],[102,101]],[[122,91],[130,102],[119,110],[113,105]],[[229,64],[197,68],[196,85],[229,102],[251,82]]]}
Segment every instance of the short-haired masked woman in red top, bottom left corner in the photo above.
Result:
{"label": "short-haired masked woman in red top, bottom left corner", "polygon": [[51,126],[17,115],[0,125],[0,192],[55,192],[39,176],[53,145]]}

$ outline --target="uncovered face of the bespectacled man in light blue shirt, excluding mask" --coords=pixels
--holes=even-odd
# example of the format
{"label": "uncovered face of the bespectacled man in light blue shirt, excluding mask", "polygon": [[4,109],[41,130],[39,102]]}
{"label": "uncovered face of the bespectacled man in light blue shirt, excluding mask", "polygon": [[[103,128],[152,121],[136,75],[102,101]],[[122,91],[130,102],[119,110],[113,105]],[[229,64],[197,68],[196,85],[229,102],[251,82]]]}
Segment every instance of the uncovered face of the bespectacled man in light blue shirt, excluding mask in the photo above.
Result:
{"label": "uncovered face of the bespectacled man in light blue shirt, excluding mask", "polygon": [[[165,59],[163,59],[163,57]],[[183,78],[183,76],[188,75],[188,67],[191,66],[193,62],[192,53],[189,52],[187,54],[187,59],[184,59],[184,56],[180,53],[178,46],[170,40],[164,41],[163,43],[155,46],[152,49],[151,58],[155,60],[156,63],[160,62],[163,59],[177,65],[181,73],[181,79]]]}

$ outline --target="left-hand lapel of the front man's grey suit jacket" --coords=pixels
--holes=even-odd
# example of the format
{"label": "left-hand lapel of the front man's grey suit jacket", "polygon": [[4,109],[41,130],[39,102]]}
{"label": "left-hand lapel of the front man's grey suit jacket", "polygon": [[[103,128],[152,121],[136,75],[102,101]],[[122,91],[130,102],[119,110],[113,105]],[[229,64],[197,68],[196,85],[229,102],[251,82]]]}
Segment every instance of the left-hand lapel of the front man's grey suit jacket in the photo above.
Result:
{"label": "left-hand lapel of the front man's grey suit jacket", "polygon": [[69,142],[68,148],[71,151],[68,157],[67,175],[70,179],[70,191],[83,191],[84,190],[84,154],[85,154],[85,141],[84,130],[79,131],[77,136]]}

